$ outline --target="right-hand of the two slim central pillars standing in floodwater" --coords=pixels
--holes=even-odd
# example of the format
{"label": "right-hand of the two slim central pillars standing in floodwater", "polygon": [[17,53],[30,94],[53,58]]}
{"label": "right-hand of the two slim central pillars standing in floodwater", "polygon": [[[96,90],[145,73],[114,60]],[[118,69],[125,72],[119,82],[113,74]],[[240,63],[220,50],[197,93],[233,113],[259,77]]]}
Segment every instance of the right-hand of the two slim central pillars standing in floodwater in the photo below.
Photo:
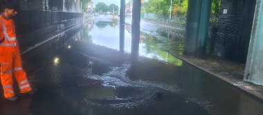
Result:
{"label": "right-hand of the two slim central pillars standing in floodwater", "polygon": [[140,42],[140,0],[133,1],[131,21],[131,56],[138,56]]}

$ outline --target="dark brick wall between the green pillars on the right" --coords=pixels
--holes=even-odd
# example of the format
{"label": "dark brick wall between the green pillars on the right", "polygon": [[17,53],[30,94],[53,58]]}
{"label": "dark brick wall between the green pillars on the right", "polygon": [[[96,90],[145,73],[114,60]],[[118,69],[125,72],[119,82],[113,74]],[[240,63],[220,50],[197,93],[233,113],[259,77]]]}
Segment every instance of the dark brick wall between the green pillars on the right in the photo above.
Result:
{"label": "dark brick wall between the green pillars on the right", "polygon": [[[256,0],[221,0],[213,54],[246,62]],[[227,14],[223,14],[227,9]]]}

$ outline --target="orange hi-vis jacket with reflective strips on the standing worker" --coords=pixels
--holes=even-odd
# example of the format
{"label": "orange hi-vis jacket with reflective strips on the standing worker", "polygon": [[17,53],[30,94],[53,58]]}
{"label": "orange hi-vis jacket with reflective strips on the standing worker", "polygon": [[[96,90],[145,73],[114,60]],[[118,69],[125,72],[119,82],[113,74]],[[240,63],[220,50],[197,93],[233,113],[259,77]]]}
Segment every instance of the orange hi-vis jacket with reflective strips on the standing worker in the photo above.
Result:
{"label": "orange hi-vis jacket with reflective strips on the standing worker", "polygon": [[0,43],[0,47],[6,46],[6,48],[14,48],[18,45],[17,34],[15,34],[15,24],[12,19],[6,19],[6,17],[1,14],[0,17],[0,39],[5,39]]}

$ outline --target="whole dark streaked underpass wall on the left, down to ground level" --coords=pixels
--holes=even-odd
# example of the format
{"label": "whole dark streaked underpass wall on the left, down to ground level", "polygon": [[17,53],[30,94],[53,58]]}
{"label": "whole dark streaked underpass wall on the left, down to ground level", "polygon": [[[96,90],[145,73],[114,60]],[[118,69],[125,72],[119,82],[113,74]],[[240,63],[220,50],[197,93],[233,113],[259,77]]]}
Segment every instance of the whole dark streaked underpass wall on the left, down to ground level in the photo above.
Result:
{"label": "whole dark streaked underpass wall on the left, down to ground level", "polygon": [[22,54],[84,21],[80,0],[16,1],[15,25]]}

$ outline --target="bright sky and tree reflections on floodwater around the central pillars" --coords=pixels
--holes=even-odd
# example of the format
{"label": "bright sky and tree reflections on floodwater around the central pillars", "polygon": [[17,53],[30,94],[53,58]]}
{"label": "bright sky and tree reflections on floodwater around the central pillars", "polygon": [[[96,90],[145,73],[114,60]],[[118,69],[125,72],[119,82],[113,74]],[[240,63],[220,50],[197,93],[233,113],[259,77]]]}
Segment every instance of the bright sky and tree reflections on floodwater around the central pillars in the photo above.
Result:
{"label": "bright sky and tree reflections on floodwater around the central pillars", "polygon": [[[125,39],[123,41],[125,52],[131,52],[131,26],[125,25]],[[161,30],[158,30],[161,31]],[[114,50],[122,50],[120,49],[120,26],[117,23],[110,21],[91,21],[89,23],[89,28],[84,28],[83,30],[84,37],[82,37],[82,41],[87,41],[89,43],[95,43],[97,45],[103,45],[107,48],[112,48]],[[181,37],[182,34],[180,34]],[[177,36],[172,35],[170,39],[176,42],[172,42],[173,45],[178,45],[181,48],[180,52],[183,52],[183,39],[176,38]],[[162,44],[158,44],[162,43]],[[159,61],[165,61],[167,63],[171,63],[174,65],[182,65],[182,61],[176,59],[171,54],[167,53],[165,50],[161,50],[160,45],[165,43],[164,39],[156,39],[156,37],[146,34],[142,32],[140,34],[139,41],[139,54],[140,56],[145,56],[151,59],[157,59]],[[170,43],[167,41],[167,43]],[[171,44],[172,45],[172,44]]]}

